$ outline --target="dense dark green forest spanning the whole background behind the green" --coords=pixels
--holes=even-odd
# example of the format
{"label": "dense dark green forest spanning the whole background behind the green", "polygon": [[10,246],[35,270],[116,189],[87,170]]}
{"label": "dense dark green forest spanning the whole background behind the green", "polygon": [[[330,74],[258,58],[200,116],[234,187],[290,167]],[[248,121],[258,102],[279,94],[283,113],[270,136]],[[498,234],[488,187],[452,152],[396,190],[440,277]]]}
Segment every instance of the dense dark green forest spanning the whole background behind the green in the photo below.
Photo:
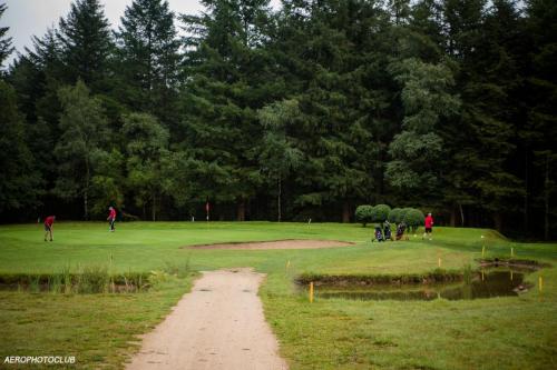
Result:
{"label": "dense dark green forest spanning the whole background behind the green", "polygon": [[[99,0],[6,66],[0,219],[343,221],[556,236],[554,0]],[[7,9],[0,6],[1,14]]]}

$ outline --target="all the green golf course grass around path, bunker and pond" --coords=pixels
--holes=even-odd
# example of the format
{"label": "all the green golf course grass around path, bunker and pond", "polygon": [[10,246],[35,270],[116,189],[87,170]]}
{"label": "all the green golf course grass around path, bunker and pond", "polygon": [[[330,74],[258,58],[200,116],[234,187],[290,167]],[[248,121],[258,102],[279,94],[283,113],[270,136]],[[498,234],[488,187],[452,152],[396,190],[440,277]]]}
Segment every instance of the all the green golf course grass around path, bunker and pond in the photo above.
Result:
{"label": "all the green golf course grass around path, bunker and pond", "polygon": [[[109,266],[114,273],[253,267],[267,274],[260,290],[265,317],[291,369],[555,369],[557,368],[557,244],[516,243],[480,229],[436,228],[434,239],[371,243],[371,228],[303,223],[55,224],[0,227],[0,273],[49,273]],[[481,236],[485,239],[481,239]],[[329,239],[353,247],[311,250],[194,250],[228,241]],[[475,267],[481,257],[550,263],[527,276],[518,298],[472,301],[307,301],[293,283],[302,272],[403,274]],[[290,267],[286,268],[290,261]],[[538,291],[538,277],[544,290]],[[195,276],[168,278],[139,293],[0,292],[0,359],[76,356],[78,368],[123,368],[137,342],[187,292]],[[187,336],[188,333],[184,333]],[[137,340],[136,340],[137,341]],[[7,367],[0,363],[1,367]],[[14,366],[9,366],[14,368]],[[76,368],[69,366],[68,368]]]}

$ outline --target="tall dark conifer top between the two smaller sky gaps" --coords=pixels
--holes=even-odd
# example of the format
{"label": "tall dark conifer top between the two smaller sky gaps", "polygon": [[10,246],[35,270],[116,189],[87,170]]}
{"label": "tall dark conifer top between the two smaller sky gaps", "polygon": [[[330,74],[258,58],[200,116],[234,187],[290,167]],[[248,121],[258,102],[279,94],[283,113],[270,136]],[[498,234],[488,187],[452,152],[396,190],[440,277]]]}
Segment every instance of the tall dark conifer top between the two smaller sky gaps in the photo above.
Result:
{"label": "tall dark conifer top between the two smaller sky gaps", "polygon": [[176,120],[179,42],[174,13],[163,0],[136,0],[126,8],[116,32],[117,96],[135,111],[156,114],[164,123]]}

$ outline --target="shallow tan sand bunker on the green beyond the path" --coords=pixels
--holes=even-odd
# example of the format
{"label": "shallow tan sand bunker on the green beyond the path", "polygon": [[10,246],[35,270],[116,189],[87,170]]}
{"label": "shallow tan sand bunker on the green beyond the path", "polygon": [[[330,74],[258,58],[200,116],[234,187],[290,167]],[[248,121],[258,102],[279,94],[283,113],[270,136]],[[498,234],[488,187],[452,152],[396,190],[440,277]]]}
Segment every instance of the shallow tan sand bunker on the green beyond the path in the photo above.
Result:
{"label": "shallow tan sand bunker on the green beyond the path", "polygon": [[275,241],[250,241],[221,244],[187,246],[192,249],[320,249],[350,247],[354,243],[338,240],[275,240]]}

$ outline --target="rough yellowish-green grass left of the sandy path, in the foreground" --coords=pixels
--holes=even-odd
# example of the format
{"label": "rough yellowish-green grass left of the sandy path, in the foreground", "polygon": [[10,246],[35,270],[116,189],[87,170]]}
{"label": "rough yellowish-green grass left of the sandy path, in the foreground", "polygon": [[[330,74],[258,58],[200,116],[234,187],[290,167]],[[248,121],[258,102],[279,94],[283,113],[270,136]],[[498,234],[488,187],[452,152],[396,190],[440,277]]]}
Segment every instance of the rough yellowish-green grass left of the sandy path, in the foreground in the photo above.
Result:
{"label": "rough yellowish-green grass left of the sandy path, in the foreground", "polygon": [[190,281],[168,278],[148,291],[119,294],[0,291],[0,359],[75,356],[76,364],[68,369],[119,369],[127,353],[138,349],[137,334],[150,331],[188,291]]}

